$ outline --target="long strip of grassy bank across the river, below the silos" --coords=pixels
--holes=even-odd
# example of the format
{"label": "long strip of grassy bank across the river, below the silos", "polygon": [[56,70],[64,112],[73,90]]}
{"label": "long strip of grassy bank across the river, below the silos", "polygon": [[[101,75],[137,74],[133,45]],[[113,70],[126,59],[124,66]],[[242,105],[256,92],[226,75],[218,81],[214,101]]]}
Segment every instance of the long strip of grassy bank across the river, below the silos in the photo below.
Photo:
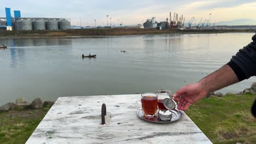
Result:
{"label": "long strip of grassy bank across the river, below the silos", "polygon": [[75,37],[75,36],[97,36],[97,35],[135,35],[135,34],[164,34],[164,33],[228,33],[228,32],[254,32],[253,29],[187,29],[178,31],[176,29],[155,28],[112,28],[112,29],[67,29],[65,31],[0,31],[0,37]]}

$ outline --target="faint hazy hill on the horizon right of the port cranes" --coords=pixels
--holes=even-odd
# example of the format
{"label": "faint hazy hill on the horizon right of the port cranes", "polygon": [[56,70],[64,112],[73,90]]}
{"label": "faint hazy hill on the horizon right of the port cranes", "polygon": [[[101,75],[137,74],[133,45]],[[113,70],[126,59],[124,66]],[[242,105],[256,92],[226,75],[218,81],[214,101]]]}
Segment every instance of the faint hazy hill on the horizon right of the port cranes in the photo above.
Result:
{"label": "faint hazy hill on the horizon right of the port cranes", "polygon": [[256,20],[237,19],[232,21],[220,21],[215,23],[215,26],[239,26],[239,25],[256,25]]}

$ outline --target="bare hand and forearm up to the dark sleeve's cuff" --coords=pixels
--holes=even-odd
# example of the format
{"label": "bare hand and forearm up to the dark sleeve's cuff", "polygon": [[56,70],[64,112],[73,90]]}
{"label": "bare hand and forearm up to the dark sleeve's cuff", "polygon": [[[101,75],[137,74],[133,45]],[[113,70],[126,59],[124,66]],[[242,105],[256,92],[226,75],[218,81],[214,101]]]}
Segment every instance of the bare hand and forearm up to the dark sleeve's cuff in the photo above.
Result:
{"label": "bare hand and forearm up to the dark sleeve's cuff", "polygon": [[228,64],[225,64],[222,68],[214,71],[199,82],[179,89],[173,97],[175,101],[179,101],[178,109],[185,111],[188,110],[191,104],[205,97],[206,94],[232,85],[238,81],[235,72]]}

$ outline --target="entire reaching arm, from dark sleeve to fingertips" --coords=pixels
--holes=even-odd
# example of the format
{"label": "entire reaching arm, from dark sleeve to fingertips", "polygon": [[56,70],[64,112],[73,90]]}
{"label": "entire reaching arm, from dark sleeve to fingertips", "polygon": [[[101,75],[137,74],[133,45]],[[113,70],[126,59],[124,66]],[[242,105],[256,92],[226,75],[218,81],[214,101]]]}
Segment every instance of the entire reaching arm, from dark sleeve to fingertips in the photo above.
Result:
{"label": "entire reaching arm, from dark sleeve to fingertips", "polygon": [[179,101],[178,109],[185,111],[208,93],[256,75],[256,35],[252,40],[253,42],[239,50],[228,64],[199,82],[179,89],[173,95],[174,100]]}

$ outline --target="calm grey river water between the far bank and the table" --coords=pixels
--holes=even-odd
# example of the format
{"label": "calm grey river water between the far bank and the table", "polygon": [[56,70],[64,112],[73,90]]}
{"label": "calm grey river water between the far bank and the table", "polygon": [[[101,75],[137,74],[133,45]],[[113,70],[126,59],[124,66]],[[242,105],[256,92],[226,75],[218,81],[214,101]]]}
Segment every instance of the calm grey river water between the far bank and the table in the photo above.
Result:
{"label": "calm grey river water between the far bank and the table", "polygon": [[[227,63],[254,33],[0,39],[0,105],[23,97],[135,94],[197,82]],[[127,52],[120,52],[125,50]],[[82,54],[97,58],[82,59]],[[255,77],[220,92],[240,92]]]}

